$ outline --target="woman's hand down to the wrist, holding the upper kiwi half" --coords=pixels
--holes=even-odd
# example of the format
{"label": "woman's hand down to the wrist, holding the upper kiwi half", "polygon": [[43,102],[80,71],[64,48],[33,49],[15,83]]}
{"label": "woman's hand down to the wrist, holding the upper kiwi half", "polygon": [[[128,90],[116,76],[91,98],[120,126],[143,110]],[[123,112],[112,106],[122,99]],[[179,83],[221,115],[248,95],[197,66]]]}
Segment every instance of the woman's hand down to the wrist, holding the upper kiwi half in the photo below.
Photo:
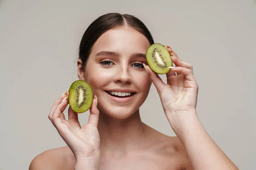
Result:
{"label": "woman's hand down to the wrist, holding the upper kiwi half", "polygon": [[169,46],[167,46],[167,50],[176,66],[166,74],[167,84],[148,65],[143,64],[157,88],[164,112],[166,116],[196,113],[198,84],[193,75],[192,65],[182,61]]}

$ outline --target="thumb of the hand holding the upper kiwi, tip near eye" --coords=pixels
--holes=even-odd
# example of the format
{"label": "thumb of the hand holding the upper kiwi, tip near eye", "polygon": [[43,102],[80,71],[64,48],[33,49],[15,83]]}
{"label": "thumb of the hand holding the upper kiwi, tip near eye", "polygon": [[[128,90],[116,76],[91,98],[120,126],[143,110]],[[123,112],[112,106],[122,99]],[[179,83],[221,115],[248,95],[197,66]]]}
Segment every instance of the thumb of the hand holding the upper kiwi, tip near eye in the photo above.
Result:
{"label": "thumb of the hand holding the upper kiwi, tip near eye", "polygon": [[154,86],[157,88],[157,92],[160,93],[160,91],[162,91],[165,83],[163,82],[163,80],[158,76],[157,73],[155,73],[154,71],[151,70],[151,68],[148,65],[145,65],[143,63],[143,66],[145,68],[145,70],[149,73],[150,75],[150,79],[152,80]]}

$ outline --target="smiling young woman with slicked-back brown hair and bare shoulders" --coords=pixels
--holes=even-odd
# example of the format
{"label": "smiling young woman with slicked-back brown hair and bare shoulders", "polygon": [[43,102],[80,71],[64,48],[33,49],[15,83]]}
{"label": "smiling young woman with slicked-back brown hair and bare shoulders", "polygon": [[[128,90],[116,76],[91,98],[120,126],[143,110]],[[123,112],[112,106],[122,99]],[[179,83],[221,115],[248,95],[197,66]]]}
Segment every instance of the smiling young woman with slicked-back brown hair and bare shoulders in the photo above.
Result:
{"label": "smiling young woman with slicked-back brown hair and bare shoulders", "polygon": [[[165,84],[145,59],[153,43],[146,26],[128,14],[105,14],[91,23],[77,61],[79,79],[95,95],[88,124],[81,127],[70,107],[65,119],[66,91],[49,119],[67,146],[36,156],[30,170],[237,170],[198,119],[192,65],[166,45],[176,67],[166,74]],[[140,119],[152,82],[177,136],[166,136]]]}

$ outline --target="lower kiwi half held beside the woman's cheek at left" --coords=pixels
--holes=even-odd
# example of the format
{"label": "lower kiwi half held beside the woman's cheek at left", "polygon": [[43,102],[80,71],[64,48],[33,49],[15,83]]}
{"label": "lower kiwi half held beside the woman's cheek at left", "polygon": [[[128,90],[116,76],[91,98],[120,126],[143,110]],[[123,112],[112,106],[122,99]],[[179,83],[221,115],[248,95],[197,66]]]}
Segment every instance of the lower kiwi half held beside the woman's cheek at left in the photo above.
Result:
{"label": "lower kiwi half held beside the woman's cheek at left", "polygon": [[87,111],[93,103],[93,91],[90,85],[83,80],[73,82],[69,89],[68,100],[74,112]]}

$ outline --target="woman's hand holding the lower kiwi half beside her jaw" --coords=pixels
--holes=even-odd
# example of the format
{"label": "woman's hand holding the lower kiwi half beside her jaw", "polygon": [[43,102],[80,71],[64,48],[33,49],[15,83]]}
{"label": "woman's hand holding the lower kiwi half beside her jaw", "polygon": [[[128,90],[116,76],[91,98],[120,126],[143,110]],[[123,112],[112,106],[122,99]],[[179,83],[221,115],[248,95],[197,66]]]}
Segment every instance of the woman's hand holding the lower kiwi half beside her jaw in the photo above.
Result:
{"label": "woman's hand holding the lower kiwi half beside her jaw", "polygon": [[[49,113],[49,119],[58,130],[58,133],[70,147],[76,162],[87,162],[90,167],[99,168],[99,110],[97,108],[97,97],[94,96],[90,108],[89,121],[81,127],[78,121],[78,113],[70,107],[68,109],[68,120],[65,119],[63,111],[68,104],[68,91],[57,99]],[[84,166],[87,166],[84,165]]]}

